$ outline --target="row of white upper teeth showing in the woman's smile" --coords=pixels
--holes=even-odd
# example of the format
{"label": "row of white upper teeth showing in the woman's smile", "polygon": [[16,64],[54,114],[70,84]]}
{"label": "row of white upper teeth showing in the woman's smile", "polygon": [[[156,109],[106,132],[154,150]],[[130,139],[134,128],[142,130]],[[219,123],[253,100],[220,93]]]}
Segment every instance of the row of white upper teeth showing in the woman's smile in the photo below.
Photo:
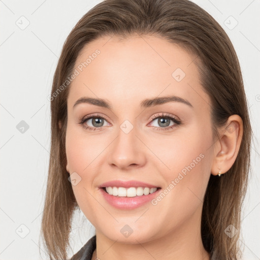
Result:
{"label": "row of white upper teeth showing in the woman's smile", "polygon": [[131,188],[124,188],[124,187],[106,187],[106,191],[108,194],[118,197],[136,197],[136,196],[143,196],[153,193],[157,190],[157,188],[148,188],[148,187],[131,187]]}

